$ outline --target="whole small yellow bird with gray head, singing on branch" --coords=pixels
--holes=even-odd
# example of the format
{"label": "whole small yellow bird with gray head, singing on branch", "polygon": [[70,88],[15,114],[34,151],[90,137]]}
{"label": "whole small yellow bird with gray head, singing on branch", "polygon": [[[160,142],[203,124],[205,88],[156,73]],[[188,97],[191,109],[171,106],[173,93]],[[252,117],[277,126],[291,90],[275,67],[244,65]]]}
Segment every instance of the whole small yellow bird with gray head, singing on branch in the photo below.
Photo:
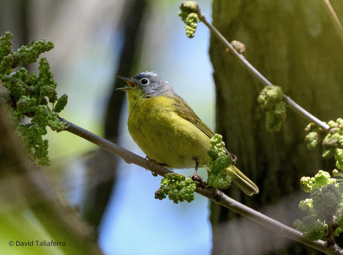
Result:
{"label": "whole small yellow bird with gray head, singing on branch", "polygon": [[[118,77],[130,85],[118,89],[127,92],[129,133],[149,159],[170,169],[195,165],[195,173],[207,164],[214,133],[167,81],[153,72]],[[245,193],[258,193],[255,183],[233,164],[228,172]]]}

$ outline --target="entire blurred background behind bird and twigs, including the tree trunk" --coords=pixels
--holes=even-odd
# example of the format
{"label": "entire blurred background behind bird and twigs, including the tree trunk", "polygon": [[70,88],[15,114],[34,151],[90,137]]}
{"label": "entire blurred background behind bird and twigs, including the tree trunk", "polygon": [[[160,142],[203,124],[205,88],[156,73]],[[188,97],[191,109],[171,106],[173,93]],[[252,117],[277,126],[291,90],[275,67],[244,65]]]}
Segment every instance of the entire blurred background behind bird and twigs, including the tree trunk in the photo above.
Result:
{"label": "entire blurred background behind bird and twigs, including the tree trunk", "polygon": [[[341,18],[341,1],[331,2]],[[114,88],[125,85],[117,75],[156,72],[223,135],[226,148],[239,158],[237,167],[260,189],[252,197],[236,186],[225,192],[293,226],[304,216],[297,207],[307,197],[300,177],[330,172],[335,161],[324,160],[320,148],[307,149],[308,120],[294,111],[287,111],[280,132],[266,130],[256,100],[263,85],[202,23],[196,36],[187,38],[177,16],[180,3],[0,0],[0,34],[14,34],[14,49],[40,38],[53,41],[55,48],[42,57],[59,96],[68,94],[61,117],[141,156],[127,131],[125,93]],[[343,33],[327,1],[198,3],[228,41],[246,44],[245,58],[286,95],[323,121],[342,117]],[[37,71],[37,65],[27,68]],[[197,194],[192,203],[157,201],[160,177],[69,132],[48,132],[51,165],[36,167],[23,156],[4,112],[0,109],[1,254],[320,254]],[[206,177],[204,169],[199,173]],[[15,243],[36,240],[66,246]]]}

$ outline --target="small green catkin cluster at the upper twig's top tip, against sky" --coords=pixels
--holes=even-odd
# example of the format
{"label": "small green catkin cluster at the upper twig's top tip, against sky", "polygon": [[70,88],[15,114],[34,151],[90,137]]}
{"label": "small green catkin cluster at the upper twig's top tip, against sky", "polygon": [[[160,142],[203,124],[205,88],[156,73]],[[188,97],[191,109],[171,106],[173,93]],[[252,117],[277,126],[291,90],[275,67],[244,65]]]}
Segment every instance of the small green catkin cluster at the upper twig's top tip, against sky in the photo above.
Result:
{"label": "small green catkin cluster at the upper twig's top tip, against sky", "polygon": [[182,21],[185,22],[186,35],[189,38],[193,38],[195,31],[198,26],[199,16],[198,11],[199,7],[196,2],[186,1],[183,2],[180,6],[181,12],[178,15],[182,18]]}

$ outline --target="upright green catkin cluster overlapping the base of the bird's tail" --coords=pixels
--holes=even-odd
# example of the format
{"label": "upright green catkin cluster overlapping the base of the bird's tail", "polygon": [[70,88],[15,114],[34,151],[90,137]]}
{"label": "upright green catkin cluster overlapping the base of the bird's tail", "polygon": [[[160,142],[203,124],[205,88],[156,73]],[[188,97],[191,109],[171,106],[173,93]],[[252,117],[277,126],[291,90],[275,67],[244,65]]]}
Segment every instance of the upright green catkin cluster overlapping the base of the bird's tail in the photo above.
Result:
{"label": "upright green catkin cluster overlapping the base of the bird's tail", "polygon": [[208,152],[210,159],[206,166],[207,183],[213,188],[227,189],[231,185],[231,176],[229,176],[227,168],[233,161],[232,156],[226,154],[225,143],[222,139],[223,137],[218,134],[210,139],[212,146]]}

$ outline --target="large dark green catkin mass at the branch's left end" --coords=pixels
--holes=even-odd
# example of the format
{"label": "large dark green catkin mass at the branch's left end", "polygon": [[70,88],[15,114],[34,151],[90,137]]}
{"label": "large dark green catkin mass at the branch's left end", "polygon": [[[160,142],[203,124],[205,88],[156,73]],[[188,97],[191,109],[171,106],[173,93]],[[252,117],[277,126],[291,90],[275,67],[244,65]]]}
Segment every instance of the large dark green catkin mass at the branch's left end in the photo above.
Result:
{"label": "large dark green catkin mass at the branch's left end", "polygon": [[[54,44],[41,39],[21,47],[17,52],[12,52],[12,38],[13,35],[9,32],[0,38],[0,80],[3,84],[1,96],[11,106],[17,130],[26,142],[27,148],[33,151],[33,158],[37,164],[49,165],[48,140],[42,136],[47,134],[47,126],[57,132],[68,128],[58,115],[66,106],[68,96],[64,94],[57,98],[56,82],[45,58],[39,61],[38,76],[34,72],[29,74],[23,67],[15,73],[12,72],[21,63],[36,62],[39,55],[54,48]],[[52,104],[52,110],[48,102]],[[19,122],[19,118],[25,116],[31,118],[30,123]]]}

